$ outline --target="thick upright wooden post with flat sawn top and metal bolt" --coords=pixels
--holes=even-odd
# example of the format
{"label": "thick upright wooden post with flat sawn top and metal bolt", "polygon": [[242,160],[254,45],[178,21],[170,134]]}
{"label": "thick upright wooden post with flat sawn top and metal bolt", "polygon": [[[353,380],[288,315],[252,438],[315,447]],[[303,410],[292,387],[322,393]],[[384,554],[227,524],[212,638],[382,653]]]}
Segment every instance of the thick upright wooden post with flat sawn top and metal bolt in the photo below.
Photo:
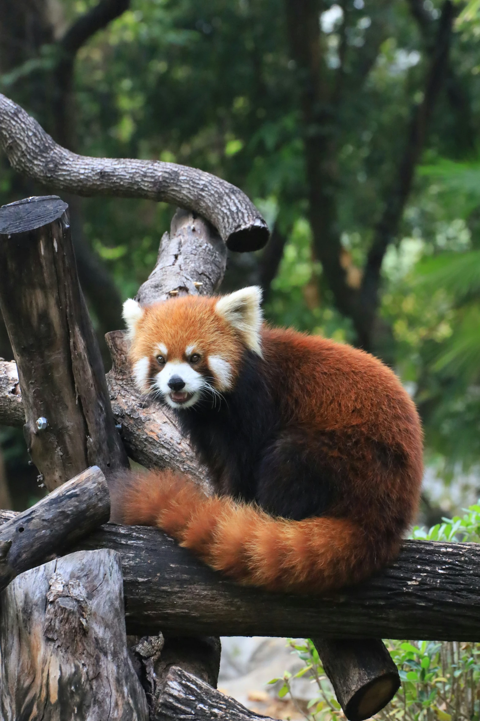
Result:
{"label": "thick upright wooden post with flat sawn top and metal bolt", "polygon": [[56,196],[0,208],[0,307],[17,361],[27,445],[48,490],[87,466],[127,466],[66,210]]}

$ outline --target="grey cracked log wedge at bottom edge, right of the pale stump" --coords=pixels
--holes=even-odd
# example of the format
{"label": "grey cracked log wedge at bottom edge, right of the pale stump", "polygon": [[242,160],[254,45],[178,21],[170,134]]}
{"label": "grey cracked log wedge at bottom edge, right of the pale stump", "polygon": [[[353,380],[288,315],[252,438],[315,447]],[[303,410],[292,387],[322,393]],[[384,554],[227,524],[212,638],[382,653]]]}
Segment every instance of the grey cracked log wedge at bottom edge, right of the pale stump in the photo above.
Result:
{"label": "grey cracked log wedge at bottom edge, right of the pale stump", "polygon": [[266,719],[197,676],[172,666],[155,709],[154,721],[255,721]]}

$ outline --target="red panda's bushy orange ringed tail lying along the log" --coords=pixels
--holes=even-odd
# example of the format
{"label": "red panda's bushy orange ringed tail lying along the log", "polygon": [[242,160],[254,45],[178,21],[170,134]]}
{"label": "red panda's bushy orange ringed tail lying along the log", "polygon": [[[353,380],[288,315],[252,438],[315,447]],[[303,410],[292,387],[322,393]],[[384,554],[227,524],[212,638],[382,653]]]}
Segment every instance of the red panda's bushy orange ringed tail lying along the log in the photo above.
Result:
{"label": "red panda's bushy orange ringed tail lying along the log", "polygon": [[128,474],[110,484],[112,521],[158,526],[238,583],[325,593],[357,583],[399,550],[348,518],[289,521],[229,497],[204,495],[173,472]]}

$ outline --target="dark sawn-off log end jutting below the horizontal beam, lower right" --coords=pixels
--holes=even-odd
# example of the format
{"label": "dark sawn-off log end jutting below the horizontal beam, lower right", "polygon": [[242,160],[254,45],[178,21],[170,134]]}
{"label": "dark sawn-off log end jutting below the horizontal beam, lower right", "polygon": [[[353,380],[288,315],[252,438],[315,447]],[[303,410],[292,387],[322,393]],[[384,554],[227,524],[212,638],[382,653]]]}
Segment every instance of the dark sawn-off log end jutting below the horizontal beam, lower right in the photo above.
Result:
{"label": "dark sawn-off log end jutting below the horizontal beam, lower right", "polygon": [[381,640],[312,639],[350,721],[364,721],[388,704],[400,687],[397,666]]}

